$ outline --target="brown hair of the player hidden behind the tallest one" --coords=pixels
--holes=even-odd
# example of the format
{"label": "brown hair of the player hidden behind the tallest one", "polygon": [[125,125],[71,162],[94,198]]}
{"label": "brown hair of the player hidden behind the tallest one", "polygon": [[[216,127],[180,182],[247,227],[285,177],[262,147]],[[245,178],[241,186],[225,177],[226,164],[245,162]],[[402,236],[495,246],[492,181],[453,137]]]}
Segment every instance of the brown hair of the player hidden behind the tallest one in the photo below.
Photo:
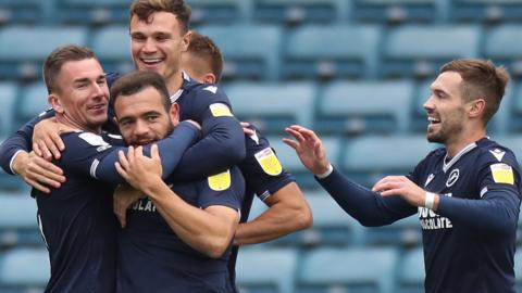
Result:
{"label": "brown hair of the player hidden behind the tallest one", "polygon": [[220,81],[223,72],[223,55],[211,38],[192,30],[187,52],[209,64],[212,74],[215,76],[215,84]]}

